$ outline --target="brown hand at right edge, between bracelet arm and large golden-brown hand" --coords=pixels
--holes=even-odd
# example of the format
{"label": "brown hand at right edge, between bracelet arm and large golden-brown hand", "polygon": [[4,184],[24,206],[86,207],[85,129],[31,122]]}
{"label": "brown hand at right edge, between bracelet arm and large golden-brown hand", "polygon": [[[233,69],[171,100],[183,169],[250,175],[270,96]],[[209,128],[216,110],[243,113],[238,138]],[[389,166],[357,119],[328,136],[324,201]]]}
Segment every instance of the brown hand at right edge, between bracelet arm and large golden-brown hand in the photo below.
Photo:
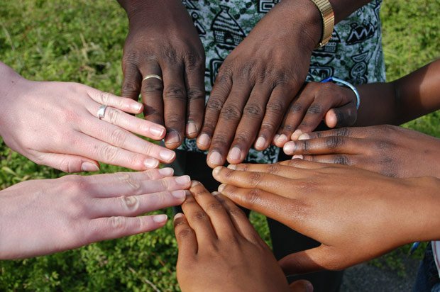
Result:
{"label": "brown hand at right edge, between bracelet arm and large golden-brown hand", "polygon": [[387,176],[440,174],[440,140],[392,125],[302,134],[299,140],[287,142],[284,152],[295,158],[353,165]]}

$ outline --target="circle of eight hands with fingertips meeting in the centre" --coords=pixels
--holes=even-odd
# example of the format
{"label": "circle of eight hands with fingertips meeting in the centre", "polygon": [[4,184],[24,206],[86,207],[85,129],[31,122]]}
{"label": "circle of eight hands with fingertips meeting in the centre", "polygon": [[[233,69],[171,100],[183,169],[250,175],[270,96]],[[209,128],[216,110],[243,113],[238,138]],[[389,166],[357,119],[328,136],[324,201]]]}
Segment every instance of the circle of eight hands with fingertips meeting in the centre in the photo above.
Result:
{"label": "circle of eight hands with fingertips meeting in the centre", "polygon": [[[427,175],[430,169],[402,157],[427,159],[414,141],[431,149],[433,138],[392,126],[341,128],[356,121],[353,92],[335,84],[304,84],[316,40],[302,40],[289,54],[283,45],[270,45],[297,39],[295,32],[272,27],[280,24],[271,18],[283,19],[285,10],[278,7],[287,5],[284,1],[226,57],[205,105],[204,48],[185,7],[176,2],[171,9],[155,5],[148,10],[164,15],[157,30],[129,15],[123,97],[76,83],[31,82],[2,68],[11,82],[0,131],[11,149],[63,172],[96,172],[99,162],[140,172],[63,176],[4,189],[0,215],[8,220],[0,220],[0,232],[9,236],[0,240],[0,259],[155,230],[165,225],[166,215],[143,214],[180,204],[185,215],[175,216],[175,233],[182,290],[242,284],[229,290],[310,291],[305,281],[289,287],[283,272],[343,269],[414,240],[417,226],[403,221],[402,227],[399,219],[410,218],[414,210],[407,203],[390,208],[387,200],[394,199],[390,193],[396,191],[390,190],[395,189],[398,201],[406,202],[415,200],[416,189],[429,193],[435,181],[405,178]],[[144,79],[152,74],[162,80]],[[102,105],[106,108],[98,118]],[[133,116],[139,113],[144,118]],[[312,133],[323,120],[339,129]],[[164,140],[165,147],[139,136]],[[170,168],[157,169],[175,159],[172,150],[185,138],[196,138],[199,149],[207,150],[207,164],[222,183],[219,193],[209,193],[189,176],[173,176]],[[270,145],[284,147],[297,159],[241,164],[251,147],[262,151]],[[226,162],[231,165],[222,167]],[[235,204],[321,245],[277,262]],[[387,212],[378,216],[380,208]],[[358,225],[366,221],[359,233]],[[404,237],[397,235],[402,229]],[[373,236],[376,230],[383,232]],[[248,283],[243,274],[227,273],[232,265],[246,267],[238,271],[260,280]],[[216,276],[194,278],[194,269]]]}

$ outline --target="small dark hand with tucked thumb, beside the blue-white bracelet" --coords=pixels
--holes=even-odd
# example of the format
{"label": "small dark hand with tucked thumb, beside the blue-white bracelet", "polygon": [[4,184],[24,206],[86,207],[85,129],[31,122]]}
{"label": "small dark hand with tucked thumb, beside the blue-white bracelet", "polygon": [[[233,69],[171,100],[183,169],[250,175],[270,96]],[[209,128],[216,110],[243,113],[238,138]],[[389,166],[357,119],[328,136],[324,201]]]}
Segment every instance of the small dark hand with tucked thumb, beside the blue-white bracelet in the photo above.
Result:
{"label": "small dark hand with tucked thumb, beside the blue-white bracelet", "polygon": [[[290,103],[275,139],[283,147],[287,139],[297,140],[302,133],[312,132],[324,119],[327,127],[348,127],[356,122],[356,95],[351,89],[334,83],[310,82]],[[278,137],[278,136],[277,136]]]}

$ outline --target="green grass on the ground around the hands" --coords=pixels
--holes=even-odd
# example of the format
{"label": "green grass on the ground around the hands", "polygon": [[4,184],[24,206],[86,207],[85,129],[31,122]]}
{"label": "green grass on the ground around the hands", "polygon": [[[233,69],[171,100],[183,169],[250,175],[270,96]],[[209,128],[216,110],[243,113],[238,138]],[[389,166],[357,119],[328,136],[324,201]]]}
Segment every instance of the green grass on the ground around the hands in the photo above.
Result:
{"label": "green grass on the ground around the hands", "polygon": [[[439,0],[385,1],[382,18],[388,80],[439,57],[438,11]],[[119,94],[127,24],[116,1],[8,1],[0,5],[0,60],[28,79],[81,82]],[[405,126],[440,137],[439,121],[437,112]],[[102,167],[102,172],[120,170]],[[1,189],[19,181],[60,175],[11,152],[0,140]],[[263,216],[253,214],[251,219],[268,241]],[[406,249],[375,263],[401,269],[400,258]],[[167,224],[155,232],[70,252],[0,262],[0,291],[175,291],[176,258],[172,226]]]}

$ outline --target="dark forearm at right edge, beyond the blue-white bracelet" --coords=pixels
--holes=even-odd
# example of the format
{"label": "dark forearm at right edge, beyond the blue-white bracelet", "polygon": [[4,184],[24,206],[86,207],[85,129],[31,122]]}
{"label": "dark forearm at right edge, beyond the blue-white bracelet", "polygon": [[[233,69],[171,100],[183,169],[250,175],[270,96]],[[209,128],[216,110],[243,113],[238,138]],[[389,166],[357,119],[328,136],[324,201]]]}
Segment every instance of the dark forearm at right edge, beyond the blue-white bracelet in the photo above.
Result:
{"label": "dark forearm at right edge, beyond the blue-white bracelet", "polygon": [[357,126],[400,125],[440,108],[440,60],[390,83],[358,86]]}

